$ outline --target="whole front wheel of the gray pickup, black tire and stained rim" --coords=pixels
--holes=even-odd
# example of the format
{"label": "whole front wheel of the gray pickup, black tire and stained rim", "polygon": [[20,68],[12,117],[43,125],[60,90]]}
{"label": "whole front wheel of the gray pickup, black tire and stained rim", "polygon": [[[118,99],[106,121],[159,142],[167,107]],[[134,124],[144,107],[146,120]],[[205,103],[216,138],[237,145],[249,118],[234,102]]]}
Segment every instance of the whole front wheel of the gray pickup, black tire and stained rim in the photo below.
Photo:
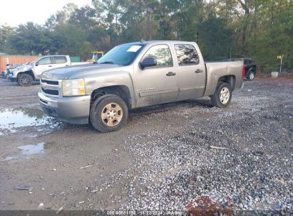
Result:
{"label": "whole front wheel of the gray pickup, black tire and stained rim", "polygon": [[[106,105],[110,104],[110,107],[113,110],[108,110]],[[114,106],[115,105],[115,106]],[[116,107],[116,105],[118,105]],[[114,109],[119,109],[116,112]],[[102,112],[107,118],[102,118]],[[108,112],[108,113],[107,113]],[[120,120],[118,120],[120,117]],[[113,120],[112,120],[112,119]],[[108,121],[109,119],[109,121]],[[91,105],[90,110],[90,122],[94,129],[102,133],[118,131],[126,124],[128,119],[128,107],[125,104],[124,100],[116,95],[103,95],[98,97],[93,104]],[[108,122],[112,122],[113,126],[108,126]]]}

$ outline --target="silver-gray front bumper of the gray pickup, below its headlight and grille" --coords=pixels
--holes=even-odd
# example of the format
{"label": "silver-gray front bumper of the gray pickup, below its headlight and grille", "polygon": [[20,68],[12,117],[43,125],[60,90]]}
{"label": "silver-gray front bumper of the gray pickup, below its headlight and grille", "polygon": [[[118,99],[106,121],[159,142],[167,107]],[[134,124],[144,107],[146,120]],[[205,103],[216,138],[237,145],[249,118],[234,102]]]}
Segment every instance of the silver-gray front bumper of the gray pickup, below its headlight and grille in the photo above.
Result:
{"label": "silver-gray front bumper of the gray pickup, below its headlight and grille", "polygon": [[70,124],[88,124],[91,95],[78,97],[48,97],[38,92],[43,111],[51,117]]}

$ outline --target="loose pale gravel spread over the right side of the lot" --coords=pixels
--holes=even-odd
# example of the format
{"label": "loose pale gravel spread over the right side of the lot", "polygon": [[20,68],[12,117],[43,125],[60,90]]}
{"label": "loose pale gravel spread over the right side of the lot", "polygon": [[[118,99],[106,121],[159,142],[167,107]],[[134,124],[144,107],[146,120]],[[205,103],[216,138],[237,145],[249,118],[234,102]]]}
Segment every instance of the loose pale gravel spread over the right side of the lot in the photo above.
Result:
{"label": "loose pale gravel spread over the right side of the lot", "polygon": [[135,159],[111,182],[129,180],[121,209],[201,210],[208,201],[222,210],[292,212],[293,83],[246,84],[229,109],[203,99],[202,107],[150,114],[188,120],[128,137]]}

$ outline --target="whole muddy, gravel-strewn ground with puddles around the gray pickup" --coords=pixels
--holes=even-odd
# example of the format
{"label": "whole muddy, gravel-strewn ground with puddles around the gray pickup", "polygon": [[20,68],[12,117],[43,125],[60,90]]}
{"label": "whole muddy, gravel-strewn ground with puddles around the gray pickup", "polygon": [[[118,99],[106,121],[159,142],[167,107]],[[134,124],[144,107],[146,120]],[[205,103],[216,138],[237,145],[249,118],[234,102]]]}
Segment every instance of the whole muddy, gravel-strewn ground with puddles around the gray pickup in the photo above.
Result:
{"label": "whole muddy, gravel-strewn ground with puddles around the gray pickup", "polygon": [[226,109],[136,109],[110,134],[44,116],[39,88],[0,79],[0,210],[292,212],[292,76],[247,81]]}

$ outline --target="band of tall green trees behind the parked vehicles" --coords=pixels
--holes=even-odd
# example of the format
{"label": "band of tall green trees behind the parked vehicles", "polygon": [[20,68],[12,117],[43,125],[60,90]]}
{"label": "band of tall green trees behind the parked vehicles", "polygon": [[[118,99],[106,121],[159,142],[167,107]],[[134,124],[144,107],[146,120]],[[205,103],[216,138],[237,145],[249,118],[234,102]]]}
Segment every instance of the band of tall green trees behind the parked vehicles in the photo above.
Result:
{"label": "band of tall green trees behind the parked vehicles", "polygon": [[293,69],[292,0],[92,0],[66,4],[44,25],[0,26],[0,53],[90,58],[120,43],[196,41],[206,60],[252,58],[263,72]]}

